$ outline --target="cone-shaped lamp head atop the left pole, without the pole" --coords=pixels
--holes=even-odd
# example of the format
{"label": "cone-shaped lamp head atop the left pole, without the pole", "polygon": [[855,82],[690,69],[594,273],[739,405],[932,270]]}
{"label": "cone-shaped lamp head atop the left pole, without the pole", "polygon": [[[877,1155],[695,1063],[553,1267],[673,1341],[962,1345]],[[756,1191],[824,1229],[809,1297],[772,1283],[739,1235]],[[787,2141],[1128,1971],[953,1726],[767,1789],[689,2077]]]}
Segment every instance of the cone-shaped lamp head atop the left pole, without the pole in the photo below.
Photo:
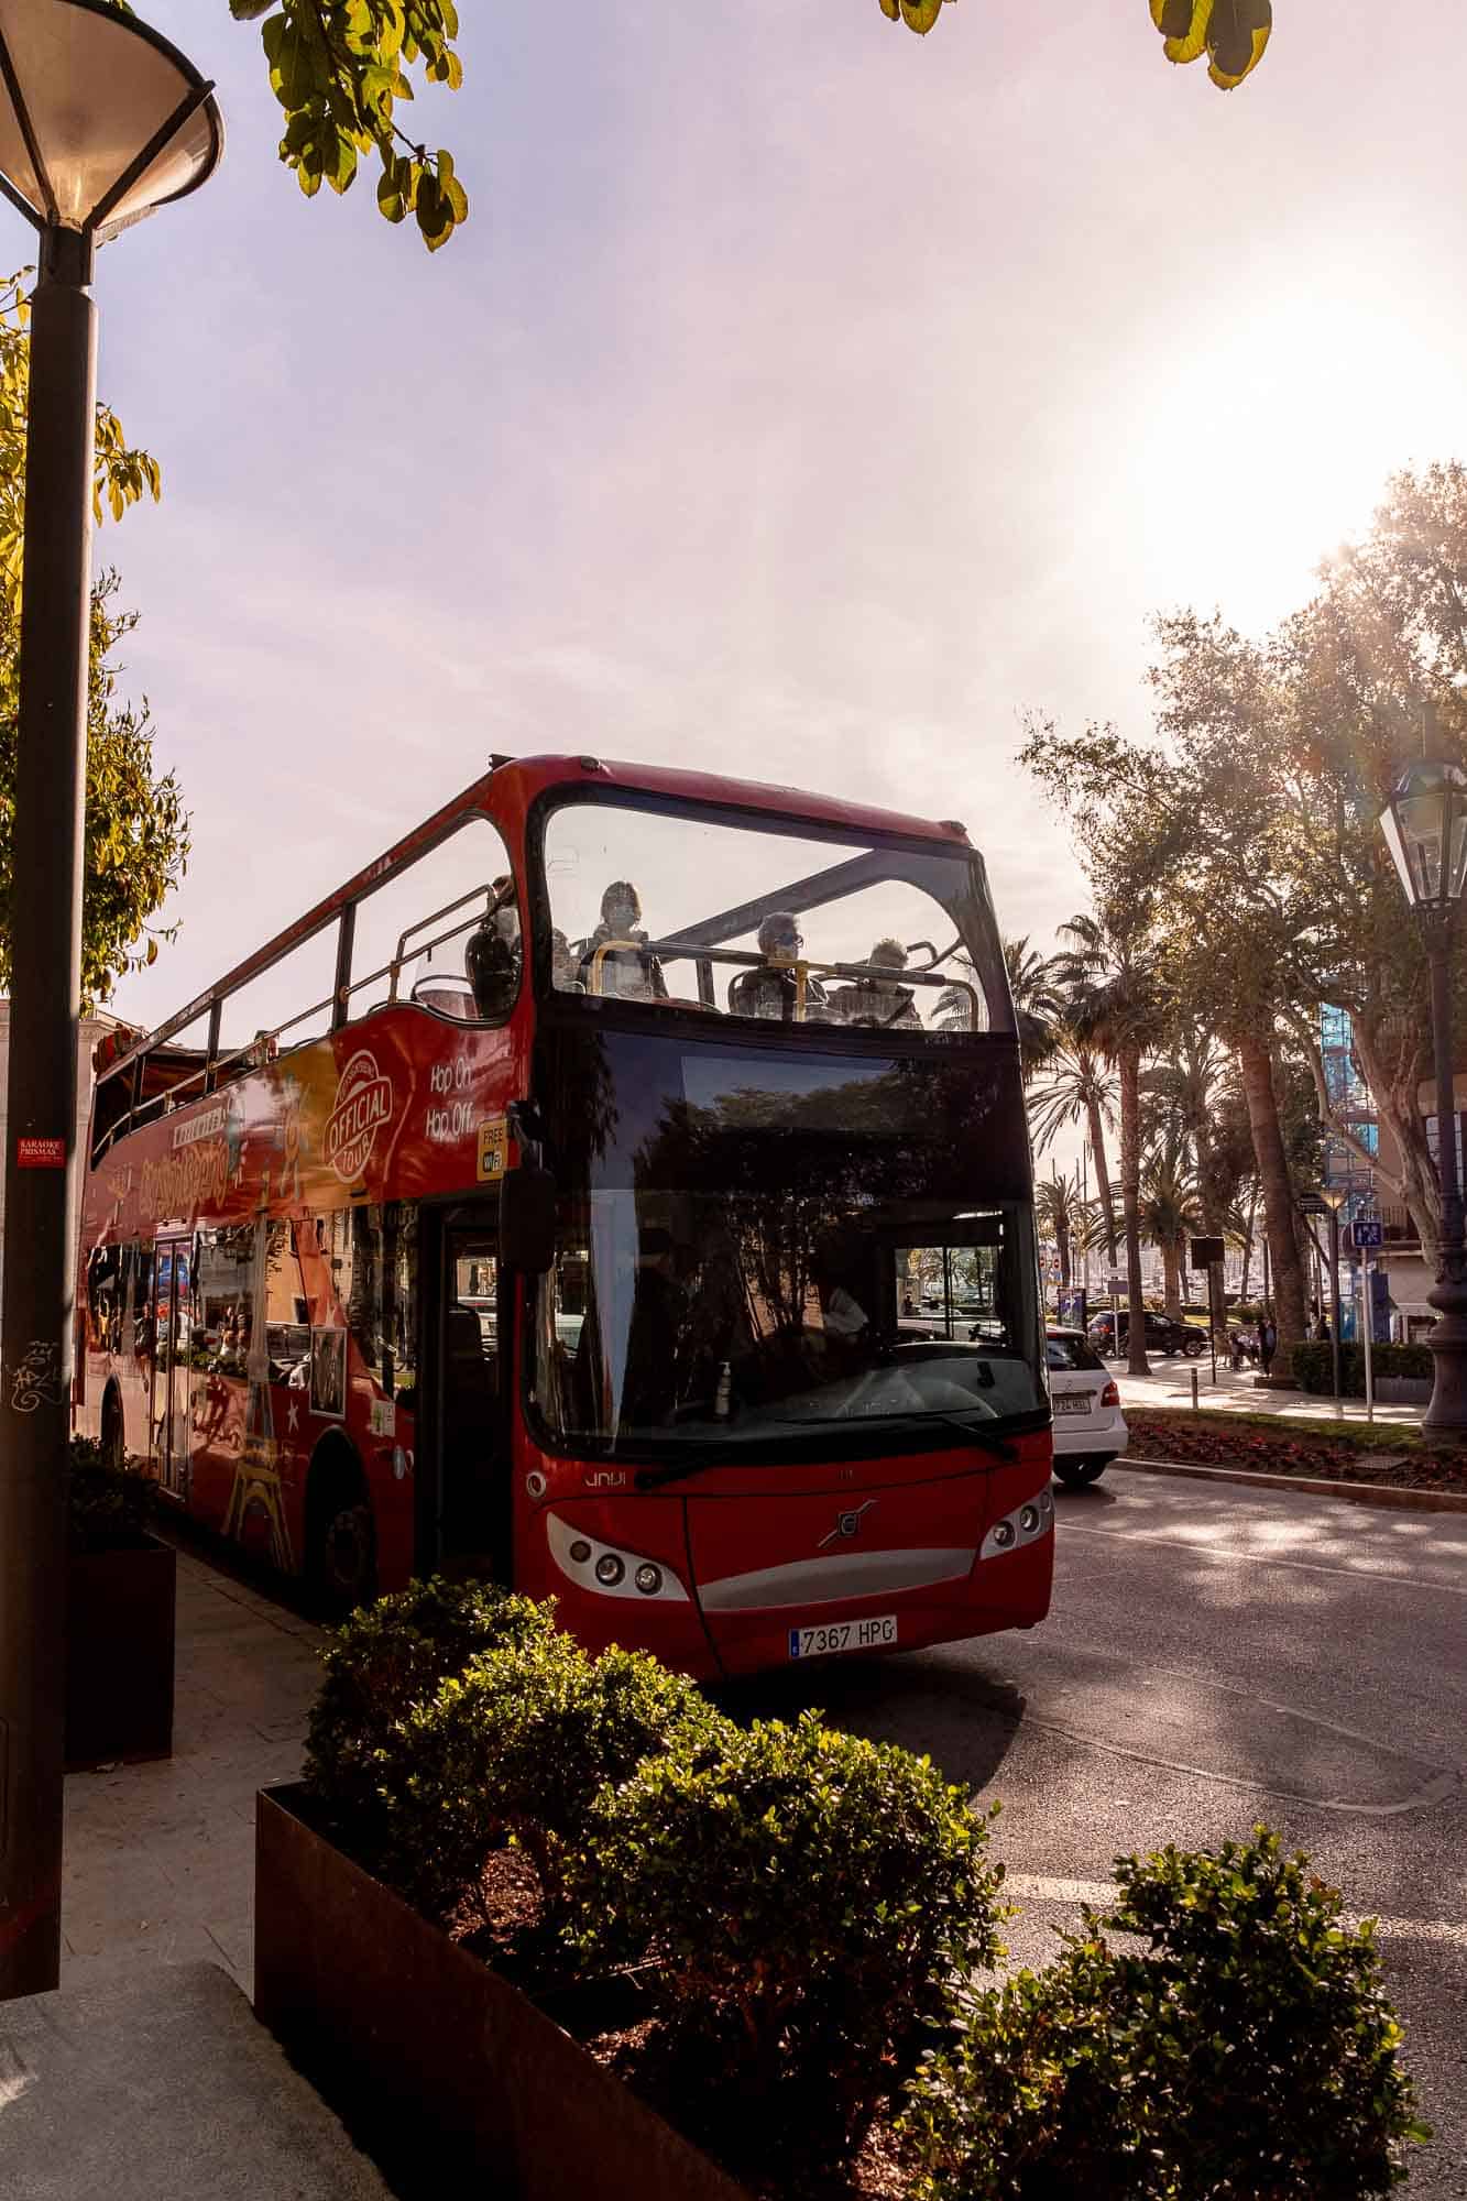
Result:
{"label": "cone-shaped lamp head atop the left pole, without the pole", "polygon": [[110,0],[0,0],[0,191],[104,242],[218,167],[225,125],[176,46]]}

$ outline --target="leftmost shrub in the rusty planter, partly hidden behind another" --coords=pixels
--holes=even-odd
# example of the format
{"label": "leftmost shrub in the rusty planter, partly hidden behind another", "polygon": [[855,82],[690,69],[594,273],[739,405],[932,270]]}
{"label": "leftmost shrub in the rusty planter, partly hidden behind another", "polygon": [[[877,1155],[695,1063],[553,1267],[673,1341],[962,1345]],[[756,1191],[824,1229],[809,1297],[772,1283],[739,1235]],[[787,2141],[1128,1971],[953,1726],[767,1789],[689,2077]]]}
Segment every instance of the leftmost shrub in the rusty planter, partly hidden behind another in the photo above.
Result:
{"label": "leftmost shrub in the rusty planter, partly hidden behind another", "polygon": [[374,1871],[383,1855],[383,1781],[401,1756],[410,1712],[480,1651],[553,1633],[553,1605],[493,1583],[432,1576],[361,1607],[322,1660],[304,1781],[350,1853]]}

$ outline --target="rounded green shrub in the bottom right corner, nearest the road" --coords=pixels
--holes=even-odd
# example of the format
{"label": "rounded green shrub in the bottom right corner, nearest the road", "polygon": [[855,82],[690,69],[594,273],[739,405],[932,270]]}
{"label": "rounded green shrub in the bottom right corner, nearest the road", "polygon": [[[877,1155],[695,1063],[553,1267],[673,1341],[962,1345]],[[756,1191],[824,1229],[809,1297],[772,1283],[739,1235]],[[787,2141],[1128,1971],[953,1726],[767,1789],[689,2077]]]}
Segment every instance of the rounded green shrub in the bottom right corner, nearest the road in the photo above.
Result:
{"label": "rounded green shrub in the bottom right corner, nearest the road", "polygon": [[[919,2201],[1357,2201],[1425,2137],[1370,1926],[1278,1836],[1117,1862],[1046,1972],[980,1994],[903,2115]],[[1139,1937],[1117,1950],[1108,1932]]]}

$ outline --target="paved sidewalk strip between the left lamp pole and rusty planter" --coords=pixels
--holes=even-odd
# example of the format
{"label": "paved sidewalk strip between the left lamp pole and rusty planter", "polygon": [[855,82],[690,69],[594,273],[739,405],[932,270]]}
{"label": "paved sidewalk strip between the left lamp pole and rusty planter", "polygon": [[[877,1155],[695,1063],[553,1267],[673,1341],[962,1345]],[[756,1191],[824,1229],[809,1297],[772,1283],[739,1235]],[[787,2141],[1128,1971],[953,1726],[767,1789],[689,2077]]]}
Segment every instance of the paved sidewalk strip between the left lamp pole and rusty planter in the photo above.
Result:
{"label": "paved sidewalk strip between the left lamp pole and rusty planter", "polygon": [[322,1631],[178,1552],[174,1756],[66,1778],[62,1990],[253,1974],[256,1789],[300,1772]]}

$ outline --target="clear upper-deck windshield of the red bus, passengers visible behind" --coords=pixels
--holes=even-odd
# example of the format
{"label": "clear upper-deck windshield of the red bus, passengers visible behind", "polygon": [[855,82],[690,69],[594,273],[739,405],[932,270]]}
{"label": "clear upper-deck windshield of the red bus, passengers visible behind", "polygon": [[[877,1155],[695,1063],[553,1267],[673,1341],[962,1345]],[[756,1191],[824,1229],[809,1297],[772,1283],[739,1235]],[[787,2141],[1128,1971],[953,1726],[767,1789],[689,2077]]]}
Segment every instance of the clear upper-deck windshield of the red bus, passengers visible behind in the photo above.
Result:
{"label": "clear upper-deck windshield of the red bus, passengers visible behind", "polygon": [[557,995],[892,1032],[1004,1032],[1009,988],[965,843],[577,799],[544,825]]}

